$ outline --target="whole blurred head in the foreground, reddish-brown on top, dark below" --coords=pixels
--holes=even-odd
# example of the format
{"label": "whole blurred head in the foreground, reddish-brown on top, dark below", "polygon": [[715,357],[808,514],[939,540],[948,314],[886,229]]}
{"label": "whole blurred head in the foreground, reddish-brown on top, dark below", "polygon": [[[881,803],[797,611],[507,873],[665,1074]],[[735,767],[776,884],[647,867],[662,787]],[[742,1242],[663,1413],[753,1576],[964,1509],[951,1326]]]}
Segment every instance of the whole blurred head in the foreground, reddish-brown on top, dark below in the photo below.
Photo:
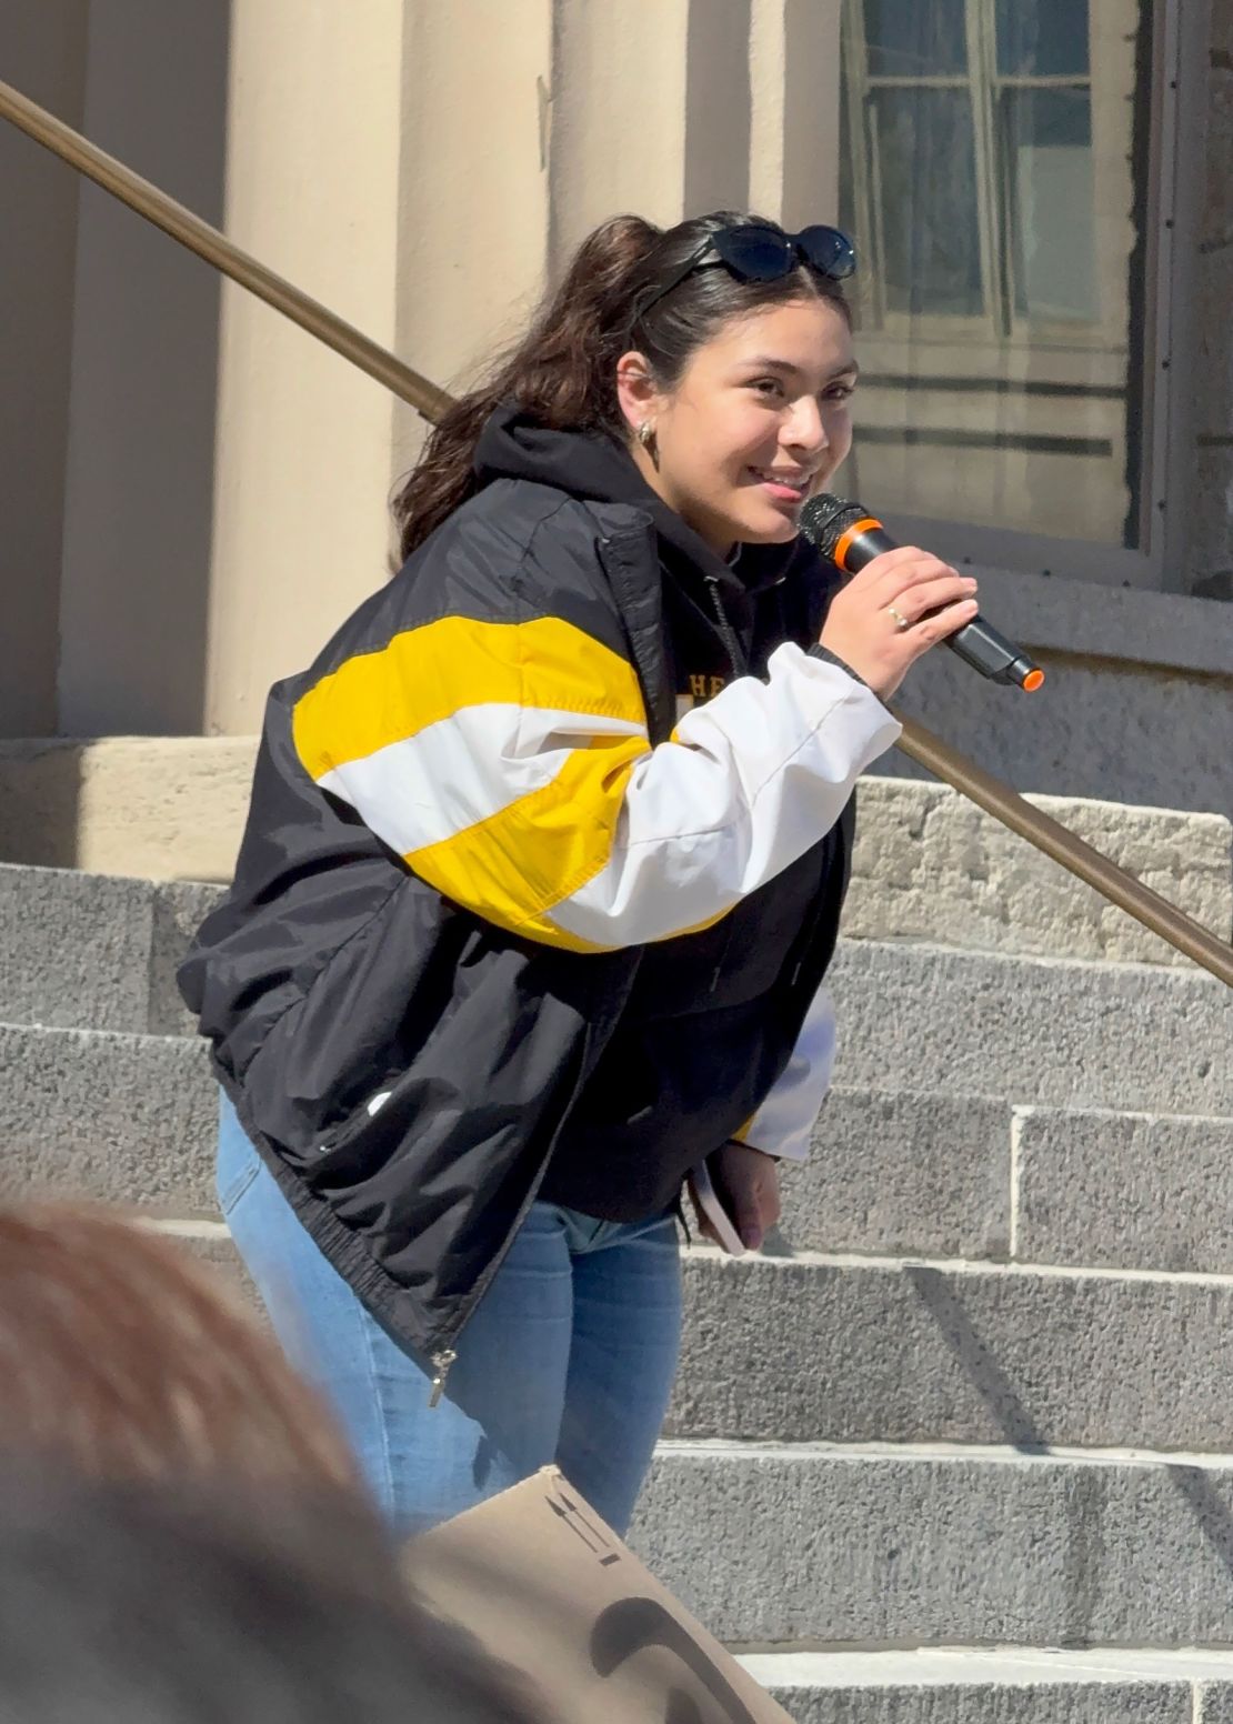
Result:
{"label": "whole blurred head in the foreground, reddish-brown on top, dark below", "polygon": [[0,1210],[0,1724],[529,1724],[183,1245]]}

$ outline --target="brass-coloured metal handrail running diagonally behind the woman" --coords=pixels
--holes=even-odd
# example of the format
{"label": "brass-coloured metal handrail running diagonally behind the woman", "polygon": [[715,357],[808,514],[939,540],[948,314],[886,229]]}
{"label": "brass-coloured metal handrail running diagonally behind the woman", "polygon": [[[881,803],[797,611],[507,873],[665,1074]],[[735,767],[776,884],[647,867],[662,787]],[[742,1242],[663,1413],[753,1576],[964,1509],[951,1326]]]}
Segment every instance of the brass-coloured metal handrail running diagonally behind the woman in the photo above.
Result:
{"label": "brass-coloured metal handrail running diagonally behind the woman", "polygon": [[[335,352],[341,353],[354,365],[359,365],[371,378],[376,378],[378,383],[385,383],[388,390],[404,402],[409,402],[429,424],[436,424],[452,405],[452,397],[445,390],[436,388],[428,378],[421,378],[417,371],[404,365],[400,359],[395,359],[393,353],[352,328],[352,324],[343,322],[326,305],[309,298],[300,288],[276,276],[272,269],[250,257],[248,252],[241,252],[217,228],[210,228],[200,216],[185,209],[183,203],[176,203],[166,191],[150,184],[148,179],[141,179],[140,174],[117,162],[116,157],[97,148],[81,133],[76,133],[64,121],[55,119],[55,116],[48,114],[36,102],[31,102],[5,83],[0,83],[0,117],[10,121],[36,143],[41,143],[53,155],[69,162],[78,172],[93,179],[105,191],[110,191],[112,197],[128,203],[138,216],[145,216],[155,228],[162,228],[172,240],[178,240],[190,252],[205,259],[221,274],[238,281],[241,288],[248,288],[250,293],[255,293],[267,305],[272,305],[300,324],[309,334],[316,334],[319,341],[333,347]],[[1117,905],[1119,910],[1133,915],[1143,928],[1159,934],[1161,940],[1167,940],[1178,952],[1193,959],[1195,964],[1200,964],[1226,986],[1233,988],[1233,946],[1224,940],[1219,940],[1211,929],[1195,922],[1193,917],[1186,915],[1174,903],[1169,903],[1167,898],[1152,891],[1150,886],[1135,879],[1126,869],[1111,862],[1109,857],[1100,855],[1098,850],[1093,850],[1092,845],[1085,843],[1059,821],[1054,821],[1040,809],[1033,809],[1009,784],[985,772],[974,760],[950,748],[948,743],[933,736],[923,724],[916,724],[912,719],[900,719],[900,722],[904,734],[898,740],[898,748],[912,760],[943,779],[943,783],[950,784],[962,796],[978,803],[978,807],[985,809],[1012,833],[1026,838],[1036,850],[1043,850],[1054,862],[1059,862],[1078,879],[1093,886],[1095,891]]]}

